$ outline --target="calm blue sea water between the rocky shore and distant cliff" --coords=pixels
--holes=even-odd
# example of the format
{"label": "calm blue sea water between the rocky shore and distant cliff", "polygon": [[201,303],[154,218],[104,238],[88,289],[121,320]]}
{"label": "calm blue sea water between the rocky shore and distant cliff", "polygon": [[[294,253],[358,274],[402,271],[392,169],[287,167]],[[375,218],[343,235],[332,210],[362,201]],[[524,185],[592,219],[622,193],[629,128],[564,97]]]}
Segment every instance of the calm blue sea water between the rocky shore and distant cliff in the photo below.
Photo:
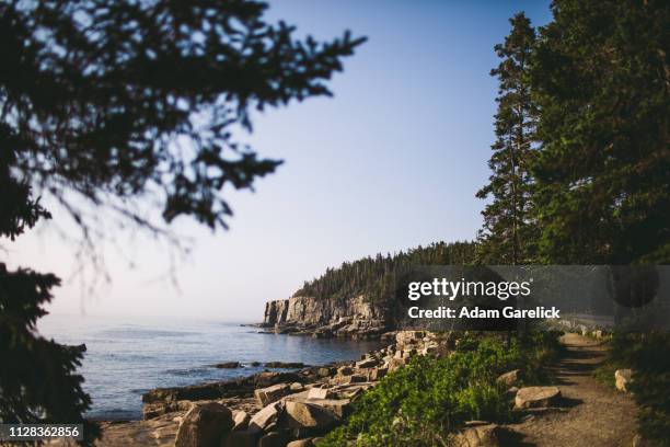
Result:
{"label": "calm blue sea water between the rocky shore and distant cliff", "polygon": [[[47,316],[39,332],[62,344],[85,343],[80,373],[93,399],[94,419],[140,419],[141,394],[157,387],[224,380],[262,371],[256,362],[302,362],[321,365],[356,359],[377,342],[314,340],[259,334],[239,323]],[[235,360],[236,369],[216,363]]]}

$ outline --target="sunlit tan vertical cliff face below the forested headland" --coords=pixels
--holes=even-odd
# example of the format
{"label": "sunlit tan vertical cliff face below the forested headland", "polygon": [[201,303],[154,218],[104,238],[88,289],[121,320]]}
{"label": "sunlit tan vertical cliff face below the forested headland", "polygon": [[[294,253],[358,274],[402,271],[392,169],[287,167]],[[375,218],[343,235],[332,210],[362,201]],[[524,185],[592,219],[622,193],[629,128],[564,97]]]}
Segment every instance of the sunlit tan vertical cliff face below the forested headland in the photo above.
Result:
{"label": "sunlit tan vertical cliff face below the forested headland", "polygon": [[268,301],[263,325],[314,336],[373,337],[389,329],[388,309],[360,295],[348,299],[293,297]]}

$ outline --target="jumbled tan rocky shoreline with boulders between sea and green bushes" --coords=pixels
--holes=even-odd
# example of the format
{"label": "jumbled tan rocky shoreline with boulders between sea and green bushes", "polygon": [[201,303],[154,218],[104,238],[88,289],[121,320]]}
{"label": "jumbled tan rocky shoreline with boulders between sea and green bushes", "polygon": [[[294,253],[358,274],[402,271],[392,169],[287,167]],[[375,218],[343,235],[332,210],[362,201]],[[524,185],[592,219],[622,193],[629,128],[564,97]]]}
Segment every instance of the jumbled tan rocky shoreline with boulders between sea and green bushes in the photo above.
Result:
{"label": "jumbled tan rocky shoreline with boulders between sea and green bushes", "polygon": [[97,445],[192,446],[197,438],[204,443],[197,445],[221,447],[311,446],[388,373],[440,348],[437,335],[423,331],[379,337],[389,345],[356,362],[151,390],[142,396],[142,421],[103,422]]}

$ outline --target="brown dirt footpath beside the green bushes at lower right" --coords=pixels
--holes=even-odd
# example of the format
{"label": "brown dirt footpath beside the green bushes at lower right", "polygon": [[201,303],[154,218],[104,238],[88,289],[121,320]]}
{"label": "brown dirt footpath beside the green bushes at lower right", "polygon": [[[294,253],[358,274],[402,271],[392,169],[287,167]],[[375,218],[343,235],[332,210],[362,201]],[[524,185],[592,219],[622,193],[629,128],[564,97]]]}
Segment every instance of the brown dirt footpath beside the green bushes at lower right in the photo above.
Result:
{"label": "brown dirt footpath beside the green bushes at lower right", "polygon": [[508,425],[505,445],[538,447],[631,447],[636,406],[628,394],[598,382],[593,369],[604,358],[597,341],[568,333],[562,337],[565,356],[553,368],[564,409]]}

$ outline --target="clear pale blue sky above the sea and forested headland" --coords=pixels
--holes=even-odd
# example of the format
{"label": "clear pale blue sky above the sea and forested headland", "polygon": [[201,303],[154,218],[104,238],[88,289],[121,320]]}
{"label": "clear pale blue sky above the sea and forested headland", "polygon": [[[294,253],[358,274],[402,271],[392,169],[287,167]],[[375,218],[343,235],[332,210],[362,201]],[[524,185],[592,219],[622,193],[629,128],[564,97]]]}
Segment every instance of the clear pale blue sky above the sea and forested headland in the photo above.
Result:
{"label": "clear pale blue sky above the sea and forested headland", "polygon": [[169,250],[119,233],[120,249],[103,249],[111,282],[89,290],[53,221],[3,244],[0,262],[63,278],[55,314],[257,322],[267,300],[344,261],[473,239],[494,139],[493,47],[518,11],[534,25],[551,20],[548,1],[536,0],[272,2],[267,18],[299,36],[350,30],[368,42],[330,83],[333,98],[266,111],[241,135],[285,163],[255,192],[228,195],[230,230],[176,222],[195,241],[176,285],[164,275]]}

